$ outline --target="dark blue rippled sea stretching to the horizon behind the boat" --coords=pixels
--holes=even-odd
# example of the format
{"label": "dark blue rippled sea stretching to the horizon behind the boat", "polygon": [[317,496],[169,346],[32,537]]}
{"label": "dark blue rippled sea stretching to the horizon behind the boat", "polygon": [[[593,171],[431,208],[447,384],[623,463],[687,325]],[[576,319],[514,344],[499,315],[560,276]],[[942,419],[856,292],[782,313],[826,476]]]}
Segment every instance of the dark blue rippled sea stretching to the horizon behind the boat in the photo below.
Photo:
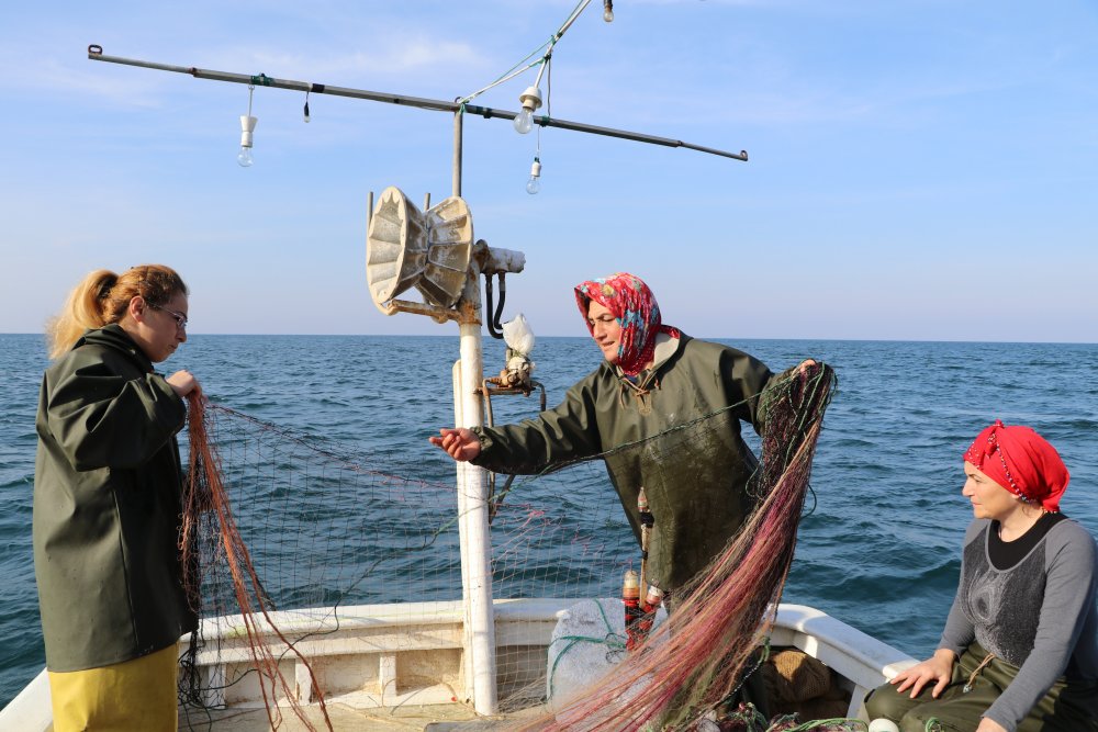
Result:
{"label": "dark blue rippled sea stretching to the horizon behind the boat", "polygon": [[[785,601],[817,607],[911,655],[929,654],[953,597],[971,518],[960,495],[961,452],[994,418],[1030,425],[1058,448],[1072,472],[1063,509],[1098,534],[1098,346],[721,342],[775,371],[813,357],[839,376]],[[322,449],[386,459],[395,475],[445,482],[452,466],[426,437],[453,421],[450,364],[457,356],[456,336],[198,335],[160,365],[165,372],[191,370],[213,401],[307,436]],[[584,338],[539,339],[535,376],[549,405],[598,358]],[[495,373],[502,361],[501,345],[488,342],[485,372]],[[40,336],[0,335],[0,706],[44,664],[31,502],[34,415],[46,364]],[[495,405],[495,418],[536,410],[534,398],[509,399]],[[518,485],[515,500],[522,491]],[[341,505],[323,508],[344,516],[372,511],[373,526],[406,519],[345,493],[332,502]],[[560,496],[558,504],[578,513],[597,504],[613,522],[620,515],[614,495],[602,488]],[[320,539],[346,543],[357,537]],[[635,551],[628,541],[624,547]],[[616,583],[619,576],[606,586]],[[559,594],[569,593],[561,587]]]}

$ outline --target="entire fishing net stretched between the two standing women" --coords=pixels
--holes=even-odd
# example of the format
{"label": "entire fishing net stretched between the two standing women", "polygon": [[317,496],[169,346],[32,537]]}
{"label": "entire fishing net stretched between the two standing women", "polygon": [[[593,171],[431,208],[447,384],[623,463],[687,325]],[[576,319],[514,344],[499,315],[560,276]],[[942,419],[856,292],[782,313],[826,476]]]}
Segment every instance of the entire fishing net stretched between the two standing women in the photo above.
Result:
{"label": "entire fishing net stretched between the two standing women", "polygon": [[[773,620],[832,387],[817,365],[763,395],[770,416],[750,486],[759,508],[635,652],[620,599],[600,605],[605,628],[589,638],[554,640],[552,622],[531,621],[547,607],[620,598],[623,575],[638,568],[603,463],[613,454],[501,489],[491,526],[501,711],[544,705],[562,649],[594,647],[613,674],[525,727],[687,729],[712,716]],[[681,453],[727,418],[619,451]],[[181,547],[202,622],[182,698],[193,719],[261,705],[273,729],[285,709],[307,729],[332,729],[326,710],[303,710],[471,703],[452,463],[440,452],[362,454],[211,403],[192,403],[190,421]]]}

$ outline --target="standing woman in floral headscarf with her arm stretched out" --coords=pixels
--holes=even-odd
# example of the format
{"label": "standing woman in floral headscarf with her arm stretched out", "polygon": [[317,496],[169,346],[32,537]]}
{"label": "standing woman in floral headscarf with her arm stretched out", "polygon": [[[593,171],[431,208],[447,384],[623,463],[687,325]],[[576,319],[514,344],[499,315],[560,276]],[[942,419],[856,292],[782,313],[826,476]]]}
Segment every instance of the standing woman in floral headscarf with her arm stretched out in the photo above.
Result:
{"label": "standing woman in floral headscarf with her arm stretched out", "polygon": [[[758,396],[777,376],[742,351],[663,325],[652,292],[632,274],[582,282],[575,301],[605,361],[562,404],[518,425],[442,429],[430,440],[455,460],[533,474],[661,436],[604,460],[638,541],[645,488],[654,518],[648,582],[673,592],[717,555],[754,506],[744,488],[757,461],[740,421],[761,430]],[[704,429],[674,430],[714,413]]]}

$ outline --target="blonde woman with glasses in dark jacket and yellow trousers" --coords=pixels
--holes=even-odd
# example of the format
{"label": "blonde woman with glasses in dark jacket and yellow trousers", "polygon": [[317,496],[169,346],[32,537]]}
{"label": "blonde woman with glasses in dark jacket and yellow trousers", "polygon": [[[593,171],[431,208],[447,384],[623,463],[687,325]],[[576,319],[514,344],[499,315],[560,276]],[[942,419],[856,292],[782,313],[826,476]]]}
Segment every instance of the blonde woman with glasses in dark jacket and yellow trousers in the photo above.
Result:
{"label": "blonde woman with glasses in dark jacket and yellow trousers", "polygon": [[34,472],[54,730],[175,730],[176,643],[195,628],[178,533],[187,285],[168,267],[88,274],[48,327]]}

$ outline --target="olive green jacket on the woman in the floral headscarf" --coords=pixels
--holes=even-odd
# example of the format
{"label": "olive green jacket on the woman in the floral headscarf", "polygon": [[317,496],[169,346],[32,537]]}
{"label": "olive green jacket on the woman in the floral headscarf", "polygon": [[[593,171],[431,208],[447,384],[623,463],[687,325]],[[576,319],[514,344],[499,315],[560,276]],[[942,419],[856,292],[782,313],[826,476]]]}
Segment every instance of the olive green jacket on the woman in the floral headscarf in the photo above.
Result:
{"label": "olive green jacket on the woman in the floral headscarf", "polygon": [[481,453],[473,463],[533,474],[662,435],[604,460],[638,541],[637,495],[645,487],[656,521],[647,581],[676,589],[724,549],[754,506],[746,486],[757,460],[740,421],[761,430],[757,397],[774,379],[742,351],[683,335],[674,353],[639,374],[636,385],[604,361],[558,407],[517,425],[478,429]]}

